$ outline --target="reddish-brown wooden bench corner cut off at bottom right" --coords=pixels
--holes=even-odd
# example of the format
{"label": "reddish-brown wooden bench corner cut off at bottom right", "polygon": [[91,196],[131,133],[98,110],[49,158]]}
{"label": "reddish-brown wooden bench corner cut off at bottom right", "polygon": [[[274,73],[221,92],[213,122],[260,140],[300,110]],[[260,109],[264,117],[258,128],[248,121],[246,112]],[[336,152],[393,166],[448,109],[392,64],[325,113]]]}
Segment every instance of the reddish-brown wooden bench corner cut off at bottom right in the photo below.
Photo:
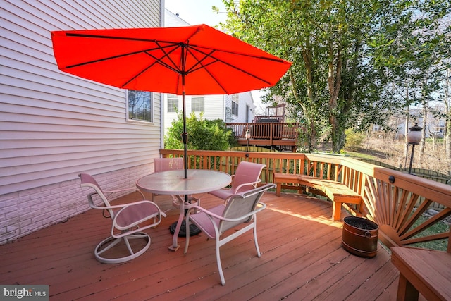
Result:
{"label": "reddish-brown wooden bench corner cut off at bottom right", "polygon": [[411,247],[390,250],[393,265],[400,271],[398,301],[418,300],[419,293],[426,300],[451,300],[451,247],[448,252]]}

